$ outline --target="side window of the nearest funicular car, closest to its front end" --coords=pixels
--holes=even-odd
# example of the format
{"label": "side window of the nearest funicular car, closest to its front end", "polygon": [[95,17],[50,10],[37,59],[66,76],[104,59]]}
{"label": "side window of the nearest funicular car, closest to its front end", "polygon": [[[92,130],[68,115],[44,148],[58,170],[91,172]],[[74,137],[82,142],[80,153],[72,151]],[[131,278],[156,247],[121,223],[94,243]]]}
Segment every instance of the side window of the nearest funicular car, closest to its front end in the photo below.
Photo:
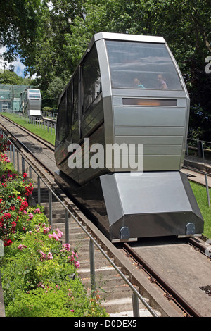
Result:
{"label": "side window of the nearest funicular car, closest to its front end", "polygon": [[101,93],[101,73],[98,63],[96,46],[91,49],[83,65],[83,113]]}

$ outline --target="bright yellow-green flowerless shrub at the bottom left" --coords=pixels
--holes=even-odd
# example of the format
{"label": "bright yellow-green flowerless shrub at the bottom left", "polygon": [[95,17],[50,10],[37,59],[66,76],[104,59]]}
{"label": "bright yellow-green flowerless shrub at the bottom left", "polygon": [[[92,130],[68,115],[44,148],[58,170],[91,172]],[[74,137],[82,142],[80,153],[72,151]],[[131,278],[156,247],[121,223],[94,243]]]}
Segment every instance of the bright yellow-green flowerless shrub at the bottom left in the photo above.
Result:
{"label": "bright yellow-green flowerless shrub at the bottom left", "polygon": [[8,317],[105,317],[108,314],[89,299],[79,280],[66,280],[60,287],[34,289],[18,296],[7,308]]}

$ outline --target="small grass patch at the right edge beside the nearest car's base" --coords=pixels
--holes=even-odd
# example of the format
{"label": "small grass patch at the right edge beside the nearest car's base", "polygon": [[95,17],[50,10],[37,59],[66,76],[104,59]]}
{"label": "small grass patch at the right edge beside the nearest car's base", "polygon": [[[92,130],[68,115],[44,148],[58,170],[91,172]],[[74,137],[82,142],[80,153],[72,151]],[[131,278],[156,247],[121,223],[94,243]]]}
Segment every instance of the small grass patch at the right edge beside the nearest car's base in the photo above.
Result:
{"label": "small grass patch at the right edge beside the nearest car's base", "polygon": [[[190,182],[190,184],[205,221],[203,235],[207,238],[211,238],[211,207],[208,206],[206,187],[196,182]],[[211,196],[211,189],[209,189],[209,192]]]}

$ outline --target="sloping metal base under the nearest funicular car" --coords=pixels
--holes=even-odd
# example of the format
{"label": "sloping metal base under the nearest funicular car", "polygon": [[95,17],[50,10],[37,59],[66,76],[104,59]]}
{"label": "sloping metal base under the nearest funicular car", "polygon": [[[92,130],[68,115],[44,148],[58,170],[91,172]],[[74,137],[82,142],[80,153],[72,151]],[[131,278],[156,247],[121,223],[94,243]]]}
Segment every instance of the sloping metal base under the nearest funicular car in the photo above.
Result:
{"label": "sloping metal base under the nearest funicular car", "polygon": [[183,173],[110,173],[82,187],[57,173],[56,182],[110,240],[120,240],[122,227],[133,239],[185,236],[188,223],[194,234],[203,232],[203,218]]}

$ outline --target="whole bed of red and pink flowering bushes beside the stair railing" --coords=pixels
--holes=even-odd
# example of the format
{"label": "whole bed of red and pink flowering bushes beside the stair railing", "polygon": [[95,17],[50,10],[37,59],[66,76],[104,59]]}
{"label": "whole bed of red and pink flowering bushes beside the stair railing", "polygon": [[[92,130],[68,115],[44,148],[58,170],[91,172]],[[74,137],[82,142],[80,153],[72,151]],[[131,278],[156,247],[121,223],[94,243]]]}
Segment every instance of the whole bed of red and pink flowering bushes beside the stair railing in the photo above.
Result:
{"label": "whole bed of red and pink flowering bushes beside the stair railing", "polygon": [[[5,151],[7,141],[4,141]],[[51,230],[40,206],[32,208],[27,174],[4,169],[0,173],[1,280],[7,317],[108,316],[89,298],[77,277],[77,249],[62,244],[58,228]]]}

